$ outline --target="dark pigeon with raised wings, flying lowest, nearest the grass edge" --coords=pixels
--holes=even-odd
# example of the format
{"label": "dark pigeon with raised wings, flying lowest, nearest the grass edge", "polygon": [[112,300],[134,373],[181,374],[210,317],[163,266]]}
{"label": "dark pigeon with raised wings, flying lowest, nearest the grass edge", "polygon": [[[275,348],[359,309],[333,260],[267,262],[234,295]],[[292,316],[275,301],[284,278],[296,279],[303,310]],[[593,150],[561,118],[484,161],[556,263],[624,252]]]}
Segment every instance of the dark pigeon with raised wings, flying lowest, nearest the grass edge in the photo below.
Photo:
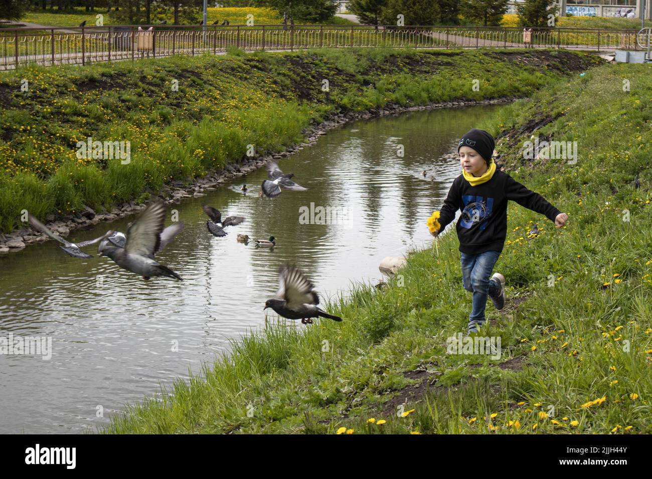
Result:
{"label": "dark pigeon with raised wings, flying lowest, nearest the grass edge", "polygon": [[319,296],[314,291],[314,285],[301,270],[284,266],[278,272],[278,291],[276,298],[265,301],[265,308],[272,308],[276,313],[288,319],[301,319],[304,325],[312,324],[312,319],[327,317],[334,321],[342,321],[339,316],[333,316],[320,310]]}

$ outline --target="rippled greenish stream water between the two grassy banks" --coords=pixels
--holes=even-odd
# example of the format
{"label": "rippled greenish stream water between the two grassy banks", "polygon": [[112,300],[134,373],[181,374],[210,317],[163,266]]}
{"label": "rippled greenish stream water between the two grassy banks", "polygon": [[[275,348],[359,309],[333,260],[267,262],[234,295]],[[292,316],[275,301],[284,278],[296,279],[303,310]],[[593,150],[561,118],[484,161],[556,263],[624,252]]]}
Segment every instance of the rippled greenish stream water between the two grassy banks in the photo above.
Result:
{"label": "rippled greenish stream water between the two grassy banks", "polygon": [[[284,263],[301,267],[323,298],[346,295],[353,282],[377,283],[383,257],[432,244],[426,219],[460,174],[458,160],[439,157],[496,108],[349,123],[281,160],[281,169],[295,173],[308,191],[260,199],[266,171],[259,169],[208,196],[170,205],[186,227],[157,259],[183,282],[144,281],[108,258],[68,257],[52,241],[0,257],[0,337],[52,338],[50,360],[0,355],[0,433],[95,430],[126,403],[153,396],[189,370],[197,373],[201,362],[228,351],[230,338],[264,324],[263,306]],[[398,145],[404,157],[396,154]],[[251,188],[246,194],[244,183]],[[227,237],[213,237],[204,203],[246,221],[229,227]],[[348,212],[349,224],[300,224],[299,208],[310,203]],[[130,220],[111,228],[126,231]],[[98,225],[70,239],[107,229]],[[237,233],[274,235],[278,244],[245,246]],[[96,256],[92,246],[85,250]]]}

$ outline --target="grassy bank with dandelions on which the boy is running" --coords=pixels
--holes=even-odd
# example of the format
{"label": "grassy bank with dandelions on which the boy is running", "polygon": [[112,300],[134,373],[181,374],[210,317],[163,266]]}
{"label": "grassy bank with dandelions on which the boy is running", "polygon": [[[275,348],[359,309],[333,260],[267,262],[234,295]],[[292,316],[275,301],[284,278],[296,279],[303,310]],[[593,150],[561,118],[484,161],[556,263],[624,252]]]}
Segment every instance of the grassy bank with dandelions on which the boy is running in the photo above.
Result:
{"label": "grassy bank with dandelions on which the boy is running", "polygon": [[[650,91],[644,65],[605,65],[477,125],[501,137],[515,179],[569,214],[555,229],[509,206],[496,264],[509,302],[488,304],[484,330],[501,338],[501,358],[447,354],[471,307],[449,230],[438,250],[411,254],[402,277],[331,305],[344,322],[268,325],[106,431],[651,433]],[[524,160],[539,126],[541,141],[578,141],[577,163]],[[542,231],[527,239],[533,223]]]}

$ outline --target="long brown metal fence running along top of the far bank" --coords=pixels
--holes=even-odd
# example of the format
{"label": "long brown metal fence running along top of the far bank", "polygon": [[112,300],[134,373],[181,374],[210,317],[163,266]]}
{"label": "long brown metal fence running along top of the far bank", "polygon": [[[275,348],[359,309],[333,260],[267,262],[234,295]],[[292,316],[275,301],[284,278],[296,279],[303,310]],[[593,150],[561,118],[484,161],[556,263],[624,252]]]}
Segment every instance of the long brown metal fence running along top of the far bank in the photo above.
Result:
{"label": "long brown metal fence running along top of the far bank", "polygon": [[299,48],[570,48],[636,50],[636,30],[520,27],[394,27],[364,25],[155,25],[0,29],[0,70]]}

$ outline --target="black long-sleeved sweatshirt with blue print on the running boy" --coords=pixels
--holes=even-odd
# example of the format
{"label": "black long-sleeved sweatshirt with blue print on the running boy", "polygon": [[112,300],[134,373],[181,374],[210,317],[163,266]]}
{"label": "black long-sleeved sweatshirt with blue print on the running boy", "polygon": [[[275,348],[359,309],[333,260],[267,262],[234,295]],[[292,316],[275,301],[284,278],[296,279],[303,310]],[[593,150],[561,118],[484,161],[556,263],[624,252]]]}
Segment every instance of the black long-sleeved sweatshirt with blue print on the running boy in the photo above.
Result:
{"label": "black long-sleeved sweatshirt with blue print on the running boy", "polygon": [[460,252],[478,254],[486,251],[502,252],[507,237],[507,200],[544,214],[554,222],[561,213],[540,194],[528,190],[507,173],[496,169],[489,181],[477,186],[458,176],[452,182],[439,216],[439,231],[455,219]]}

